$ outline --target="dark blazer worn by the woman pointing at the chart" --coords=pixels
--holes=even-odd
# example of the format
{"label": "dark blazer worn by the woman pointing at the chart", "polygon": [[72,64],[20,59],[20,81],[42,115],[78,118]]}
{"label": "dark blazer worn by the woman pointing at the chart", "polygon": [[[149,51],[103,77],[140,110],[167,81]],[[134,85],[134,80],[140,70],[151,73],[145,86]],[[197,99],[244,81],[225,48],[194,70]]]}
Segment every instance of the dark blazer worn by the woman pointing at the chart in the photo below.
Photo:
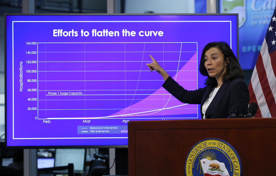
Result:
{"label": "dark blazer worn by the woman pointing at the chart", "polygon": [[[201,104],[200,112],[201,118],[202,105],[209,98],[213,89],[212,86],[206,86],[193,91],[188,91],[181,87],[171,77],[167,78],[163,87],[170,92],[179,101],[188,104]],[[249,103],[249,91],[245,82],[241,78],[236,78],[232,81],[224,81],[218,89],[214,99],[208,106],[205,117],[206,118],[227,118],[231,115],[232,110],[237,110],[241,114],[246,114]]]}

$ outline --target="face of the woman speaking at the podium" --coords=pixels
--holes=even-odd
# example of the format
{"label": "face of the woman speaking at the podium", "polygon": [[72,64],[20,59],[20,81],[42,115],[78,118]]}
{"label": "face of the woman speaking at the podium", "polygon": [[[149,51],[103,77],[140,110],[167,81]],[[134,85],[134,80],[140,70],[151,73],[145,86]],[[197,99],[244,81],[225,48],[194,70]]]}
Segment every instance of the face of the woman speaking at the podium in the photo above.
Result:
{"label": "face of the woman speaking at the podium", "polygon": [[[228,58],[226,58],[228,60]],[[215,77],[216,80],[222,79],[222,75],[226,71],[226,62],[220,49],[212,47],[205,52],[204,66],[210,77]]]}

